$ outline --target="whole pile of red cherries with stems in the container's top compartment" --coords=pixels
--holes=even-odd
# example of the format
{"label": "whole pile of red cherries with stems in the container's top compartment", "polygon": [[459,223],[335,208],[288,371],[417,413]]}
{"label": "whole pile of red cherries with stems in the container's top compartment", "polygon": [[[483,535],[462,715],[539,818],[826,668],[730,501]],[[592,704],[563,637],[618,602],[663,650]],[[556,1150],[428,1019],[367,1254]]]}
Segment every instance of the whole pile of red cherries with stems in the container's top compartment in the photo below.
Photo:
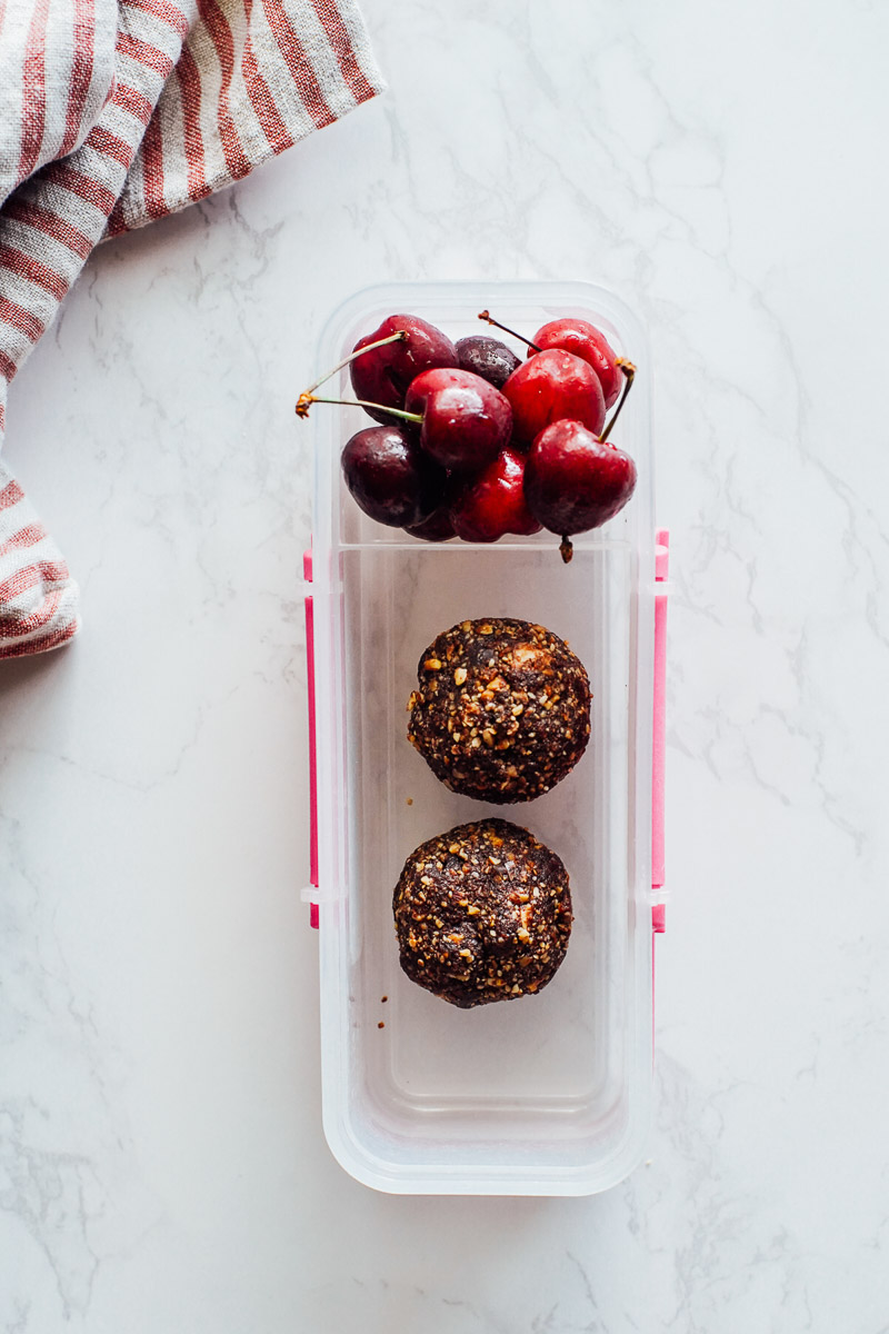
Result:
{"label": "whole pile of red cherries with stems in the container's top compartment", "polygon": [[389,315],[296,411],[344,402],[315,390],[348,364],[355,402],[381,423],[343,450],[367,515],[428,542],[548,528],[570,560],[570,536],[613,518],[636,486],[633,460],[608,439],[634,367],[588,320],[550,320],[524,339],[478,317],[526,343],[526,360],[493,338],[452,343],[416,315]]}

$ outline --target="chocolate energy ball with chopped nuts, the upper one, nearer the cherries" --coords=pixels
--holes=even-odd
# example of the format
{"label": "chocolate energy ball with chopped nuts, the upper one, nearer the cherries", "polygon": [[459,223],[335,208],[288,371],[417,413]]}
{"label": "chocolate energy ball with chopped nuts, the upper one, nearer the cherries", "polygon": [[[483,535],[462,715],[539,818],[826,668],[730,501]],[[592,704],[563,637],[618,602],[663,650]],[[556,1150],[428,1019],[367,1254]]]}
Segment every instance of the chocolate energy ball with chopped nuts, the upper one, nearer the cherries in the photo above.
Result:
{"label": "chocolate energy ball with chopped nuts, the upper one, nearer the cherries", "polygon": [[568,644],[526,620],[462,620],[429,644],[408,700],[408,740],[446,787],[529,802],[589,740],[589,678]]}

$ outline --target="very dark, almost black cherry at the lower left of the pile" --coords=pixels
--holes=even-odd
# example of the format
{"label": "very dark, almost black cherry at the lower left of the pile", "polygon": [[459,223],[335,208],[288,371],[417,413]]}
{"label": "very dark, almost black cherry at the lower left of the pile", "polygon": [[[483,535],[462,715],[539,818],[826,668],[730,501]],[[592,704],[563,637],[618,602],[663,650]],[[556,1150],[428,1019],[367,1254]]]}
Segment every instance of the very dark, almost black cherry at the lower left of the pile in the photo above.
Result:
{"label": "very dark, almost black cherry at the lower left of the pile", "polygon": [[371,426],[343,450],[343,475],[356,502],[391,528],[421,523],[440,503],[446,476],[416,438],[397,426]]}

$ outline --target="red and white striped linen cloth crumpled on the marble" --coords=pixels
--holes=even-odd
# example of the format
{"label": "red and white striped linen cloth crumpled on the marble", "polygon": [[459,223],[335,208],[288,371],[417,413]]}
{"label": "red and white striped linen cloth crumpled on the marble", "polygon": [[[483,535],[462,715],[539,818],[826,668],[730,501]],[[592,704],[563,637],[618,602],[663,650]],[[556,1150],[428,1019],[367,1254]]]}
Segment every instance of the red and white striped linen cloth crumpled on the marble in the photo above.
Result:
{"label": "red and white striped linen cloth crumpled on the marble", "polygon": [[[383,88],[352,0],[0,0],[0,443],[9,383],[93,245]],[[67,562],[0,456],[0,658],[79,624]]]}

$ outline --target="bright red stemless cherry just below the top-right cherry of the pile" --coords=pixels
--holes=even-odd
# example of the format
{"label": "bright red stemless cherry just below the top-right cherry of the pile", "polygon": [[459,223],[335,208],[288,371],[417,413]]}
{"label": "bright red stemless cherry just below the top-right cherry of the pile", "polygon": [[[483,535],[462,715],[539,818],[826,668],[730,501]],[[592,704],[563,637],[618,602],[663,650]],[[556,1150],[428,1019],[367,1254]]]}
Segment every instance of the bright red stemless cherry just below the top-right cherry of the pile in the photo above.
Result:
{"label": "bright red stemless cherry just below the top-right cherry of the pile", "polygon": [[504,384],[513,443],[525,450],[550,422],[581,422],[594,435],[605,424],[605,398],[593,368],[572,352],[548,348],[522,362]]}

